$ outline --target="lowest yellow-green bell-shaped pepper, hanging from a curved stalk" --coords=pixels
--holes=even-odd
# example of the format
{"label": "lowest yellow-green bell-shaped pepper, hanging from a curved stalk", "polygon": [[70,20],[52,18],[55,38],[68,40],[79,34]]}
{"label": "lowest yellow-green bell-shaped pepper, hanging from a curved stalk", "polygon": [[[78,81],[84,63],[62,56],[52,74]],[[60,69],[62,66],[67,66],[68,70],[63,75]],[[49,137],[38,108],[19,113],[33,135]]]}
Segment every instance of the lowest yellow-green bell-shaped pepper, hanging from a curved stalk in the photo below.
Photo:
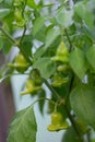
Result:
{"label": "lowest yellow-green bell-shaped pepper, hanging from a curved stalk", "polygon": [[48,131],[59,131],[69,128],[69,123],[63,120],[60,113],[54,113],[51,115],[51,123],[47,127]]}

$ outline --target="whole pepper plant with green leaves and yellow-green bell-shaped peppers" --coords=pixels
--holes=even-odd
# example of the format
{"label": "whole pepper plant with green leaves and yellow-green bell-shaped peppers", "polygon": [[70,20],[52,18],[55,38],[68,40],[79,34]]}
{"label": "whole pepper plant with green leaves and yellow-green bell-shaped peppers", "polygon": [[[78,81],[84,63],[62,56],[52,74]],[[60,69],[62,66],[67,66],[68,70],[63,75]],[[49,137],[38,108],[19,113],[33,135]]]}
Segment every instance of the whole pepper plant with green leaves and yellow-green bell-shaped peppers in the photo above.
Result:
{"label": "whole pepper plant with green leaves and yellow-green bell-shaped peppers", "polygon": [[[24,95],[45,102],[62,142],[91,142],[95,129],[95,0],[0,0],[0,50],[19,52],[0,70],[0,81],[26,74]],[[50,90],[48,98],[44,84]],[[36,142],[33,103],[15,114],[7,142]],[[67,121],[69,119],[70,121]],[[54,133],[56,134],[56,133]],[[73,137],[71,137],[73,135]]]}

